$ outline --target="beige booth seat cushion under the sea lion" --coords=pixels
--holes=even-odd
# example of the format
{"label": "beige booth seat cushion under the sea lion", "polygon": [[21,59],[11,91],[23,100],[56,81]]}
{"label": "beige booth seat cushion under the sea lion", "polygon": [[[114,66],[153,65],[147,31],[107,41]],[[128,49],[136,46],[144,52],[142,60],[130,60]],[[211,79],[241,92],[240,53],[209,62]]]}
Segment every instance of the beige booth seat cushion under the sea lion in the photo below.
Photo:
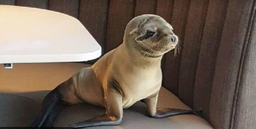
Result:
{"label": "beige booth seat cushion under the sea lion", "polygon": [[[40,63],[14,64],[12,70],[0,68],[0,78],[5,78],[0,81],[2,92],[0,100],[5,100],[0,101],[0,125],[28,126],[38,112],[41,100],[49,90],[83,67],[88,67],[88,65],[82,63]],[[158,107],[189,108],[163,87],[159,93]],[[101,107],[88,104],[70,106],[61,111],[55,119],[54,126],[67,125],[102,114],[104,114],[104,109]],[[195,115],[179,115],[164,119],[149,118],[146,115],[145,104],[137,102],[131,108],[124,110],[124,119],[120,125],[89,128],[212,128],[208,122]]]}

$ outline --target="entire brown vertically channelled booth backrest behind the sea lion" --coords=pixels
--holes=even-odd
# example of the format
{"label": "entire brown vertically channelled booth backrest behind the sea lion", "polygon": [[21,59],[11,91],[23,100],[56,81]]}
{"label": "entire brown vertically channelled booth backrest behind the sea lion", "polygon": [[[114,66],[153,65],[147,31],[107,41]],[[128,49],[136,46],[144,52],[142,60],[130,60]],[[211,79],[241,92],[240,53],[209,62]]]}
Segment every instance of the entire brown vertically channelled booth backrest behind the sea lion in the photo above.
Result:
{"label": "entire brown vertically channelled booth backrest behind the sea lion", "polygon": [[[238,89],[256,84],[255,65],[250,66],[255,62],[254,0],[0,0],[0,4],[72,15],[103,53],[122,43],[125,26],[134,16],[158,14],[171,23],[182,44],[177,57],[169,52],[162,60],[163,86],[189,106],[203,108],[216,128],[244,124],[237,122],[236,114],[242,113],[233,107],[239,104],[242,109],[241,100],[248,97],[249,91]],[[247,76],[249,70],[254,72]]]}

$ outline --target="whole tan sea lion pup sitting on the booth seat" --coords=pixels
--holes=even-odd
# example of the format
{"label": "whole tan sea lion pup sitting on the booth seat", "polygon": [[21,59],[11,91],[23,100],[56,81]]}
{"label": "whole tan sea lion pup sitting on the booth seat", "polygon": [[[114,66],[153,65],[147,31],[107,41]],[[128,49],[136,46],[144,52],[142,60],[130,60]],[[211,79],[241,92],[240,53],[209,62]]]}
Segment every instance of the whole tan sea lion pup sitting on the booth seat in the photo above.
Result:
{"label": "whole tan sea lion pup sitting on the booth seat", "polygon": [[161,59],[177,48],[177,44],[172,26],[158,15],[133,18],[126,26],[121,45],[46,95],[41,112],[31,126],[52,126],[64,106],[79,103],[105,107],[106,115],[66,127],[118,125],[122,122],[123,109],[140,100],[153,118],[197,114],[194,110],[157,108],[162,83]]}

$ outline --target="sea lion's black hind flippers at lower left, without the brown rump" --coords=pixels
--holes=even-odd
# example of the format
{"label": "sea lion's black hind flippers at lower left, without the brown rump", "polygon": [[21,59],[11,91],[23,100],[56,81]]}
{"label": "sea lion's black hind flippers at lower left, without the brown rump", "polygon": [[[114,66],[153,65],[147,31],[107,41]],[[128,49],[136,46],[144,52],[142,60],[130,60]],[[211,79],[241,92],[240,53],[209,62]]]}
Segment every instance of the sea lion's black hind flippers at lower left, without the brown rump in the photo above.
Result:
{"label": "sea lion's black hind flippers at lower left, without the brown rump", "polygon": [[40,110],[38,117],[31,124],[31,128],[52,126],[58,112],[64,107],[57,88],[46,95],[41,107],[42,109]]}

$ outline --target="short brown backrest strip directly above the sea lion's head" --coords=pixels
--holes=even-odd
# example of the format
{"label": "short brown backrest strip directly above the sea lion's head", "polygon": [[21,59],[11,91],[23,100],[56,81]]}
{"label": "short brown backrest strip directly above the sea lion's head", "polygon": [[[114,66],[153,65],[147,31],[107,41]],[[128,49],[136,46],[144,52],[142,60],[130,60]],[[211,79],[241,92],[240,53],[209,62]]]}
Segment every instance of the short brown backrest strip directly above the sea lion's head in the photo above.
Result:
{"label": "short brown backrest strip directly above the sea lion's head", "polygon": [[155,14],[157,0],[137,0],[134,16],[141,14]]}

